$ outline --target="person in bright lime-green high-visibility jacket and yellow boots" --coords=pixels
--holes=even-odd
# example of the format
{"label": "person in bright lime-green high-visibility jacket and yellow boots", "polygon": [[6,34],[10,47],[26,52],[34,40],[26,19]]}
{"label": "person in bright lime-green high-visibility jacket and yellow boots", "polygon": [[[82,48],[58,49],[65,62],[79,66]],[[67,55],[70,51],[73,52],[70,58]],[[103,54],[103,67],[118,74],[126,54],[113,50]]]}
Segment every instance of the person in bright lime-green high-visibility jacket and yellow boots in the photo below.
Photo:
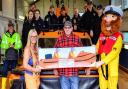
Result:
{"label": "person in bright lime-green high-visibility jacket and yellow boots", "polygon": [[[16,68],[18,61],[18,50],[22,48],[20,34],[15,32],[14,23],[11,20],[9,20],[8,22],[7,31],[2,36],[1,48],[5,51],[5,60],[3,60],[3,69],[2,69],[1,89],[7,89],[6,81],[7,81],[8,71]],[[9,48],[14,49],[15,54],[13,54],[14,52],[12,51],[11,52],[7,51]],[[6,56],[7,52],[11,56],[9,55],[9,57],[7,57]]]}

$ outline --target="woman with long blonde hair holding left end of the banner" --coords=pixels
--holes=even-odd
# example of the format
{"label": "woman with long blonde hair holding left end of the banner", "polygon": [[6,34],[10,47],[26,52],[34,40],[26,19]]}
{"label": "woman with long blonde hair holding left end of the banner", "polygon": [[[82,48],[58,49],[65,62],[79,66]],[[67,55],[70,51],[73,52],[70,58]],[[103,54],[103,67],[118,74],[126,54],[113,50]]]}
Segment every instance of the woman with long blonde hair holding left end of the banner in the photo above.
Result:
{"label": "woman with long blonde hair holding left end of the banner", "polygon": [[38,37],[35,29],[28,34],[27,45],[24,49],[23,66],[25,68],[26,89],[38,89],[40,85],[38,66]]}

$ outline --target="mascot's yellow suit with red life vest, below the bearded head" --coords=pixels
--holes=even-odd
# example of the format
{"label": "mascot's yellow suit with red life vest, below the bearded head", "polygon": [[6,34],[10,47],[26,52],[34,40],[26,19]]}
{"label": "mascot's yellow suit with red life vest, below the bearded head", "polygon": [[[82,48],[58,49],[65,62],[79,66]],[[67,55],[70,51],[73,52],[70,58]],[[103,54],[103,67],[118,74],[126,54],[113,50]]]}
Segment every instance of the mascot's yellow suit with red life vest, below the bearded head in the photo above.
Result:
{"label": "mascot's yellow suit with red life vest, below the bearded head", "polygon": [[[117,89],[119,53],[122,48],[120,32],[112,36],[100,34],[97,49],[104,64],[98,69],[100,89]],[[107,71],[106,71],[107,70]]]}

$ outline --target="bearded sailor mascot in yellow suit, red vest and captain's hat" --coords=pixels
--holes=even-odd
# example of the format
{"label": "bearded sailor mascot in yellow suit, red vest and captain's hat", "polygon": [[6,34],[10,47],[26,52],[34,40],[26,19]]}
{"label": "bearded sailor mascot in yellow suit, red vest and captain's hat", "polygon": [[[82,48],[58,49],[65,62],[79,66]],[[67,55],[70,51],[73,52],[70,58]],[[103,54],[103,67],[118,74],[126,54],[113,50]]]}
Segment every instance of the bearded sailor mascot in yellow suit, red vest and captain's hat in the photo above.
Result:
{"label": "bearded sailor mascot in yellow suit, red vest and captain's hat", "polygon": [[100,60],[94,65],[98,67],[100,89],[117,89],[119,54],[123,42],[119,28],[123,11],[116,6],[107,6],[103,13],[102,32],[96,45]]}

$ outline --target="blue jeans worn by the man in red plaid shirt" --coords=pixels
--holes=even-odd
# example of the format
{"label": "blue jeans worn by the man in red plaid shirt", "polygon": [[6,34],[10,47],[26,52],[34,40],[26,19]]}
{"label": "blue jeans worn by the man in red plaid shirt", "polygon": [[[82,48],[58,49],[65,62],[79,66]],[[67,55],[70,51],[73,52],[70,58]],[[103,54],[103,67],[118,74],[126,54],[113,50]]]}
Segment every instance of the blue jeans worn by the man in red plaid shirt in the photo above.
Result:
{"label": "blue jeans worn by the man in red plaid shirt", "polygon": [[78,76],[60,76],[61,89],[78,89],[79,77]]}

